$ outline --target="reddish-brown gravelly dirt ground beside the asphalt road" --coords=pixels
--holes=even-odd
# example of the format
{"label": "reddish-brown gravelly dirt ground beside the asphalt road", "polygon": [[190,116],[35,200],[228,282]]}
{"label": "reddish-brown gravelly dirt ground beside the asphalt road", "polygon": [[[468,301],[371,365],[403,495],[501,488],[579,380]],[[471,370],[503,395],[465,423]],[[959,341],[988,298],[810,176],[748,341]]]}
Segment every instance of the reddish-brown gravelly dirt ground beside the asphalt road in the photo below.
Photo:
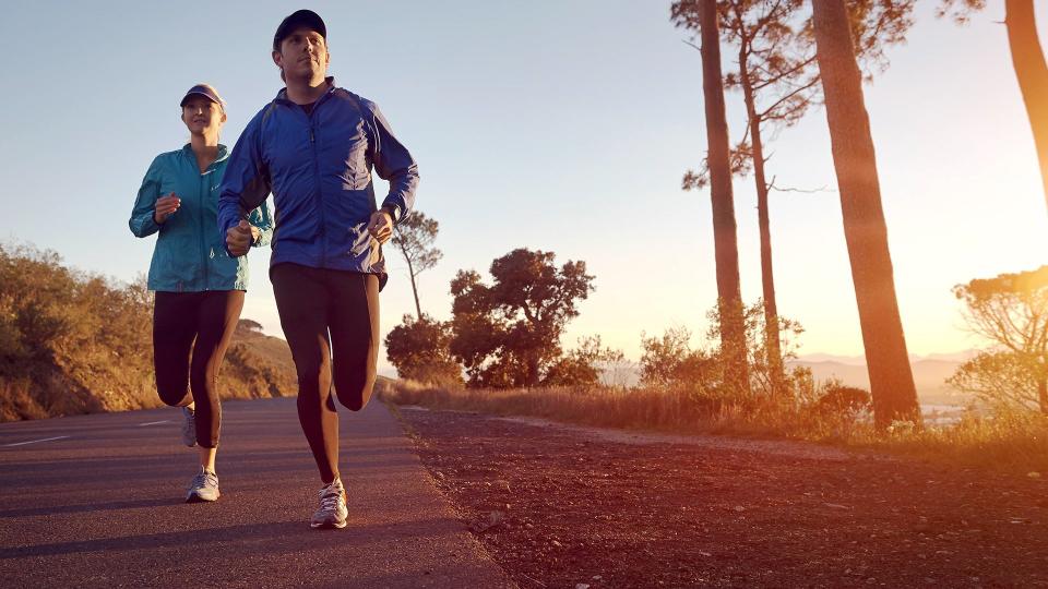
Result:
{"label": "reddish-brown gravelly dirt ground beside the asphalt road", "polygon": [[1040,478],[401,408],[522,587],[1048,587]]}

